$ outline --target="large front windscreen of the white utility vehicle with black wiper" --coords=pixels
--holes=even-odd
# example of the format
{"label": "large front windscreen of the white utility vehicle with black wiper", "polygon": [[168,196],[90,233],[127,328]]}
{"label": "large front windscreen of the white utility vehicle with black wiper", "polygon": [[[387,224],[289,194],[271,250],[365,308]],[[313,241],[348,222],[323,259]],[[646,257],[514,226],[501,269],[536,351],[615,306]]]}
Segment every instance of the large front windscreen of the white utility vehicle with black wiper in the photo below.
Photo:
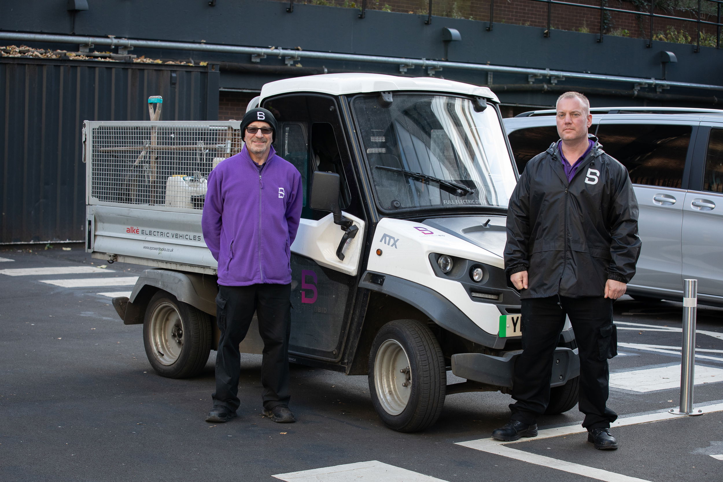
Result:
{"label": "large front windscreen of the white utility vehicle with black wiper", "polygon": [[388,106],[377,95],[352,105],[381,210],[507,207],[516,180],[493,106],[397,92]]}

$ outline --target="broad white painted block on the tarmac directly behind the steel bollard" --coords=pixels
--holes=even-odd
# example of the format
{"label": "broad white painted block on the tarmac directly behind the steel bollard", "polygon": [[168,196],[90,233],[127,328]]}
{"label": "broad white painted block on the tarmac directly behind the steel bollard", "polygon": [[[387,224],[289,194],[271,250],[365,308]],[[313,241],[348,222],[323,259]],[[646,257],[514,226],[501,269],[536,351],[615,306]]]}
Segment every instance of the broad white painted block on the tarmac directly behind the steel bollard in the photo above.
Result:
{"label": "broad white painted block on the tarmac directly behind the steel bollard", "polygon": [[[723,382],[723,369],[698,365],[695,373],[694,383],[696,385]],[[680,387],[680,364],[611,373],[610,387],[623,388],[633,392],[652,392]]]}

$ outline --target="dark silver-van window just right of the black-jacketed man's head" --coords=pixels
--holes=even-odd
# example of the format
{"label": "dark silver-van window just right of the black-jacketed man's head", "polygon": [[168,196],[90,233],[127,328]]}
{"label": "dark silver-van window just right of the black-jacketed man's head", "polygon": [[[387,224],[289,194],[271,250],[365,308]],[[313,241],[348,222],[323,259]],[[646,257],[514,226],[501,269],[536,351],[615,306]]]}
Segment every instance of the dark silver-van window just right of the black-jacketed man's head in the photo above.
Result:
{"label": "dark silver-van window just right of the black-jacketed man's head", "polygon": [[623,163],[633,184],[683,186],[691,126],[670,124],[601,124],[602,150]]}

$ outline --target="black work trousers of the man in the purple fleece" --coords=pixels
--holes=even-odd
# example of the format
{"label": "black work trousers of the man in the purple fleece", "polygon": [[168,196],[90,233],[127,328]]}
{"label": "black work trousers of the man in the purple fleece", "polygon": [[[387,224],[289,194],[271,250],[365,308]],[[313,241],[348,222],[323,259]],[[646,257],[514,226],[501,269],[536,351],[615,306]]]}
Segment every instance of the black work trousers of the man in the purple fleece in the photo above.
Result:
{"label": "black work trousers of the man in the purple fleece", "polygon": [[288,335],[291,331],[291,285],[218,286],[216,321],[221,330],[216,353],[216,391],[213,405],[236,411],[241,375],[239,343],[244,340],[254,311],[264,341],[261,362],[265,410],[288,405]]}

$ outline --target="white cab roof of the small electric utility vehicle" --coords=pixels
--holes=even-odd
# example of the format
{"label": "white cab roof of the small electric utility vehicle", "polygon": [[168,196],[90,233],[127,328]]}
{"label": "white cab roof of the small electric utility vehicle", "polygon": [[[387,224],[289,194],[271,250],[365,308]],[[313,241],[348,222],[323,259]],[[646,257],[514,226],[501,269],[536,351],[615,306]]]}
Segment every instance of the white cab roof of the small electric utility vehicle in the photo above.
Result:
{"label": "white cab roof of the small electric utility vehicle", "polygon": [[383,92],[388,90],[424,90],[475,95],[500,102],[488,87],[436,77],[397,77],[385,74],[322,74],[269,82],[261,88],[261,100],[290,92],[323,92],[331,95]]}

